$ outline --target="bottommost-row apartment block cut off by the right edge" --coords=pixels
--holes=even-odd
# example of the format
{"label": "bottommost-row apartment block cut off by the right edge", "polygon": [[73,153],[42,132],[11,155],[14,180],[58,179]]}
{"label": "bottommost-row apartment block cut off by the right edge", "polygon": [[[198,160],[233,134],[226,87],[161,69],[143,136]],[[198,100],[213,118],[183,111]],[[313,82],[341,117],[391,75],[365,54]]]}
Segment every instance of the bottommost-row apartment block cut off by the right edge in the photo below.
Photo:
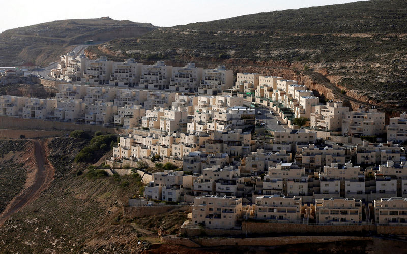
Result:
{"label": "bottommost-row apartment block cut off by the right edge", "polygon": [[407,199],[382,198],[373,201],[375,222],[381,225],[406,225]]}

